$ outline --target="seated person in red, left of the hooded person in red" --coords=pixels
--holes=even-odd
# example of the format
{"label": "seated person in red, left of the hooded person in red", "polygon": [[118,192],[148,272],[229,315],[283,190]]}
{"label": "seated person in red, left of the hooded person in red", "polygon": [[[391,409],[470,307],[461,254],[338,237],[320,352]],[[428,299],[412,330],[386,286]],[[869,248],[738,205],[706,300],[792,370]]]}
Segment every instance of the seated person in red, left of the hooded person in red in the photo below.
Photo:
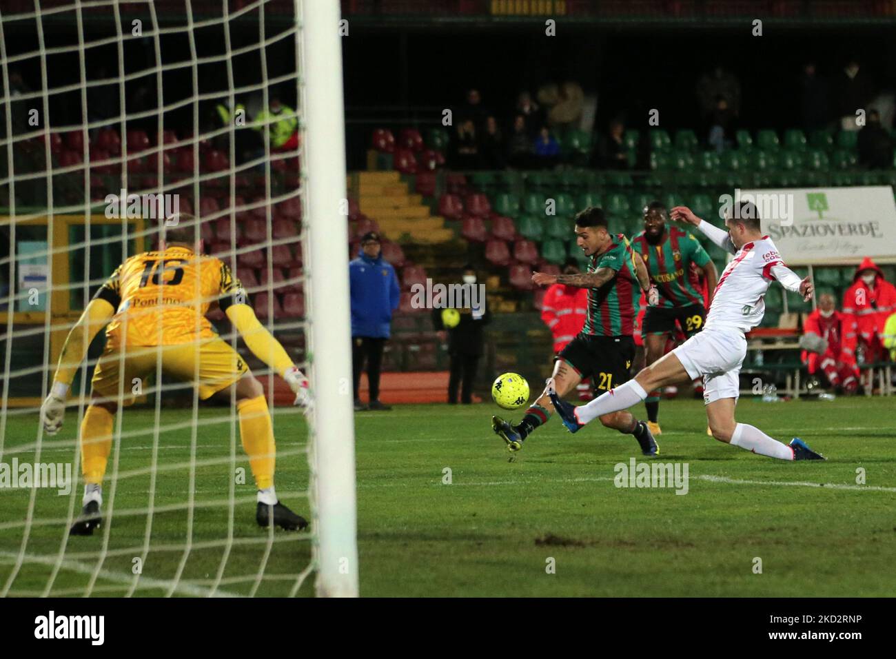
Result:
{"label": "seated person in red, left of the hooded person in red", "polygon": [[[819,369],[824,372],[833,387],[842,388],[847,394],[858,387],[856,359],[844,342],[844,330],[849,321],[835,308],[834,296],[823,293],[816,308],[803,324],[803,334],[814,334],[823,339],[821,351],[803,351],[803,363],[809,367],[809,375]],[[825,343],[827,344],[824,348]]]}

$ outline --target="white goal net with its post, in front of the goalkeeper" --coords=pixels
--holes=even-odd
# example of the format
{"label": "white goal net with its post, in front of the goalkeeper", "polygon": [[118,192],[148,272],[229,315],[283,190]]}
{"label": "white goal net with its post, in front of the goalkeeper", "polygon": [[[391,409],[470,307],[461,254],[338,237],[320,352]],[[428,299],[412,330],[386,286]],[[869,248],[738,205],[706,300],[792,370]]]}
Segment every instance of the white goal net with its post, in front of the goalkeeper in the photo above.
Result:
{"label": "white goal net with its post, in front of the goalkeeper", "polygon": [[[339,2],[305,4],[0,4],[0,595],[358,594]],[[263,386],[276,495],[310,524],[256,524],[237,393],[206,400],[163,369],[178,328],[159,321],[153,368],[130,378],[119,361],[116,403],[134,404],[113,414],[102,524],[70,535],[107,340],[90,343],[50,436],[39,409],[66,336],[119,264],[191,215],[237,301],[310,379],[303,413],[204,300]]]}

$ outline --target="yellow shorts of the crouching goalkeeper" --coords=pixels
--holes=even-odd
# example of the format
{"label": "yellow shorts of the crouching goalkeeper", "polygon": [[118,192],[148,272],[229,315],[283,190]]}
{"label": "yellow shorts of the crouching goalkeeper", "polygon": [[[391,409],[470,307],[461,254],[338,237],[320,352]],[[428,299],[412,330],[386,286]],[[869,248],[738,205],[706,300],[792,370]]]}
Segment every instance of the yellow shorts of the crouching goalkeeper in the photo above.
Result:
{"label": "yellow shorts of the crouching goalkeeper", "polygon": [[156,373],[159,356],[163,377],[193,383],[203,401],[232,385],[248,371],[237,351],[217,336],[175,345],[114,346],[107,343],[90,382],[94,393],[121,405],[134,404],[137,396],[147,393],[146,377]]}

